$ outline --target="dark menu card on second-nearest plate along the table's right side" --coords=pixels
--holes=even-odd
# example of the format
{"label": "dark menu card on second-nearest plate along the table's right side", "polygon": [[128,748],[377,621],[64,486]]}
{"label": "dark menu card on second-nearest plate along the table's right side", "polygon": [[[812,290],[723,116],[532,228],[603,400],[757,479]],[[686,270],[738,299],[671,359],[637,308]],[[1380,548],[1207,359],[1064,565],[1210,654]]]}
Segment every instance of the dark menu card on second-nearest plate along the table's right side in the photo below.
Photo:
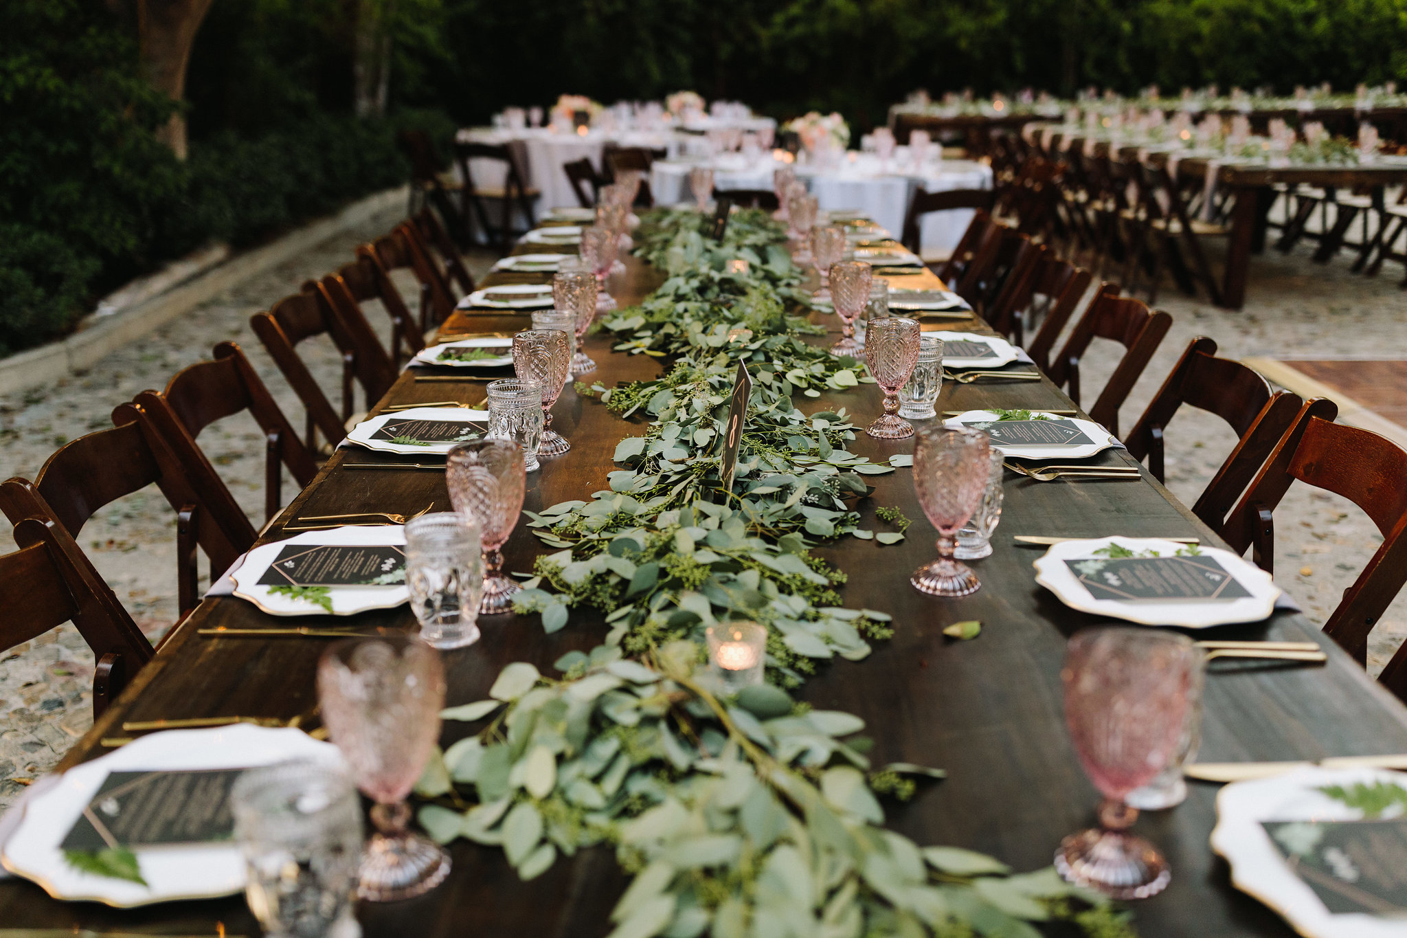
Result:
{"label": "dark menu card on second-nearest plate along the table's right side", "polygon": [[1065,565],[1095,599],[1206,602],[1251,595],[1214,557],[1100,557]]}

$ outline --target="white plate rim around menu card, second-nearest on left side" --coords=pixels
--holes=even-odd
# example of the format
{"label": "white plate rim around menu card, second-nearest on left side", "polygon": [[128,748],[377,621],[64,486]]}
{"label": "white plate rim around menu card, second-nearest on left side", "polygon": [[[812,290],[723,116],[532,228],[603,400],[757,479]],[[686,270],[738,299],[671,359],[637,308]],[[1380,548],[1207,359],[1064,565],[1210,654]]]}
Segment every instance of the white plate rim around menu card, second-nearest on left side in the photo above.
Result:
{"label": "white plate rim around menu card, second-nearest on left side", "polygon": [[[235,595],[248,599],[270,616],[326,616],[322,606],[273,592],[259,579],[265,575],[279,554],[288,544],[405,544],[405,527],[401,525],[345,525],[321,532],[303,532],[287,540],[260,544],[245,555],[245,563],[229,574],[235,581]],[[333,616],[355,616],[369,609],[394,609],[409,602],[411,593],[405,584],[397,586],[332,586],[328,589]]]}

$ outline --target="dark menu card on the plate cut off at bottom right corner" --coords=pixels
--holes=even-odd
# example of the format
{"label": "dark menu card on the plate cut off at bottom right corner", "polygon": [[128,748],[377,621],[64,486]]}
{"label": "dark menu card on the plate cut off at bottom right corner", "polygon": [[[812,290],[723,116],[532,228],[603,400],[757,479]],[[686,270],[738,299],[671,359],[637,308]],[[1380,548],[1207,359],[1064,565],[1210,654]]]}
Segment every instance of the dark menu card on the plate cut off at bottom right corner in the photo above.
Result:
{"label": "dark menu card on the plate cut off at bottom right corner", "polygon": [[1262,821],[1286,865],[1334,914],[1407,915],[1407,818]]}

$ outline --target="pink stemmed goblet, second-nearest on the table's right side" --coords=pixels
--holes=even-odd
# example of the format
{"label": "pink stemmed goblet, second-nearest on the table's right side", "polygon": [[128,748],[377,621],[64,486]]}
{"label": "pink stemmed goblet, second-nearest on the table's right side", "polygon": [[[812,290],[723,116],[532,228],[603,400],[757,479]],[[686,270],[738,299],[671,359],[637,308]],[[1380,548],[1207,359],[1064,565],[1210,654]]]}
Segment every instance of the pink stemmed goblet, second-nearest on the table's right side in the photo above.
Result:
{"label": "pink stemmed goblet, second-nearest on the table's right side", "polygon": [[982,581],[954,560],[953,551],[958,530],[982,503],[992,467],[991,437],[972,428],[926,426],[917,433],[913,488],[923,513],[938,529],[938,558],[913,571],[909,582],[930,596],[967,596],[981,589]]}

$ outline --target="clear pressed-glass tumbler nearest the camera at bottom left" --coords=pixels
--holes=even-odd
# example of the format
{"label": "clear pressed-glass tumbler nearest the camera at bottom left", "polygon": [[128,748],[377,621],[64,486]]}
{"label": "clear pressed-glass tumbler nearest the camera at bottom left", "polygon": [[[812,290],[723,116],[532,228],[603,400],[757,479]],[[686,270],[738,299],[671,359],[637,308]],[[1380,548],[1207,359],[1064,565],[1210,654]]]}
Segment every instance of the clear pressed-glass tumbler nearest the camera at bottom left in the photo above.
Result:
{"label": "clear pressed-glass tumbler nearest the camera at bottom left", "polygon": [[248,769],[229,790],[245,899],[267,938],[357,938],[362,802],[340,765],[294,759]]}

